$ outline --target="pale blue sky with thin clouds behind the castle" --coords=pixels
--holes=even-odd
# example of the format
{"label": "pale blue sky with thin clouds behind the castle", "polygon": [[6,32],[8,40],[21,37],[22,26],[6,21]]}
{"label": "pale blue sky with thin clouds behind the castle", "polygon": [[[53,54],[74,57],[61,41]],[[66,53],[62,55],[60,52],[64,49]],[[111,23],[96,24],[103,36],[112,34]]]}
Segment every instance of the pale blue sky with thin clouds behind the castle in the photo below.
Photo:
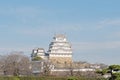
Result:
{"label": "pale blue sky with thin clouds behind the castle", "polygon": [[73,59],[120,64],[120,0],[0,0],[0,54],[46,51],[65,34]]}

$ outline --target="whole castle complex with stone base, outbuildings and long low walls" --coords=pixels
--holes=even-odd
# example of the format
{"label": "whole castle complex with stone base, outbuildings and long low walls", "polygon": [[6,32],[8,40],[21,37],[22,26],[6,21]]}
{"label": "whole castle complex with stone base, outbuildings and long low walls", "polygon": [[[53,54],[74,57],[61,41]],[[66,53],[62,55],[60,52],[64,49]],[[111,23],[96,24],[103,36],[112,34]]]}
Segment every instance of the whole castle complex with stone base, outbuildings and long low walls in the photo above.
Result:
{"label": "whole castle complex with stone base, outbuildings and long low walls", "polygon": [[33,49],[31,59],[33,74],[44,73],[46,69],[59,75],[72,69],[74,72],[87,72],[100,68],[99,65],[73,61],[71,44],[63,34],[54,35],[47,52],[43,48]]}

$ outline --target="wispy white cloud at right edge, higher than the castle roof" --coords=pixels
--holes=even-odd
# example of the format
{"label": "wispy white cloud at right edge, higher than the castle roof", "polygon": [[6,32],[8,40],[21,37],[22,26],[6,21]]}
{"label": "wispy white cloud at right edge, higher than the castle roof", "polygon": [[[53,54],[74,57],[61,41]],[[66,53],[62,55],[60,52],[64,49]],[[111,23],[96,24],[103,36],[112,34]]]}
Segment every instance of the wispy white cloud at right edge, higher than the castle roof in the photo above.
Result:
{"label": "wispy white cloud at right edge, higher than the castle roof", "polygon": [[83,30],[96,31],[103,30],[105,28],[110,27],[119,27],[120,26],[120,18],[118,19],[103,19],[99,21],[91,21],[86,22],[87,24],[81,24]]}

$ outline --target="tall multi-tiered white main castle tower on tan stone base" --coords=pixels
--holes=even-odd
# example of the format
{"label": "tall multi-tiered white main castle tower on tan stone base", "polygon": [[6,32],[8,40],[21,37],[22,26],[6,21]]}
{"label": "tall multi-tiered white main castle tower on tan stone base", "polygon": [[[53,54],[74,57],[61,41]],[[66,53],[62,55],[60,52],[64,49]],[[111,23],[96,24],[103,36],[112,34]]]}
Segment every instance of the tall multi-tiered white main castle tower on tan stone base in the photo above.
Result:
{"label": "tall multi-tiered white main castle tower on tan stone base", "polygon": [[49,60],[53,64],[72,63],[72,49],[65,35],[57,34],[49,45]]}

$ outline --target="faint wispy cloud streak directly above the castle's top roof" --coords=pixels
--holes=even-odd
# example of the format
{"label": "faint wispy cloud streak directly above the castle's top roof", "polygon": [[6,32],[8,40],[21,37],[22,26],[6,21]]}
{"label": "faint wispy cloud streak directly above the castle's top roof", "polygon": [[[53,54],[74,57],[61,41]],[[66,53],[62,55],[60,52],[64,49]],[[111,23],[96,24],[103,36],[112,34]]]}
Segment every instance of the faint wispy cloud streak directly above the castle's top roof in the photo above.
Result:
{"label": "faint wispy cloud streak directly above the castle's top roof", "polygon": [[19,28],[16,30],[17,33],[23,35],[36,35],[36,36],[45,36],[49,34],[56,34],[56,33],[63,33],[71,32],[71,31],[80,31],[81,26],[76,24],[43,24],[37,25],[36,27],[32,28]]}

